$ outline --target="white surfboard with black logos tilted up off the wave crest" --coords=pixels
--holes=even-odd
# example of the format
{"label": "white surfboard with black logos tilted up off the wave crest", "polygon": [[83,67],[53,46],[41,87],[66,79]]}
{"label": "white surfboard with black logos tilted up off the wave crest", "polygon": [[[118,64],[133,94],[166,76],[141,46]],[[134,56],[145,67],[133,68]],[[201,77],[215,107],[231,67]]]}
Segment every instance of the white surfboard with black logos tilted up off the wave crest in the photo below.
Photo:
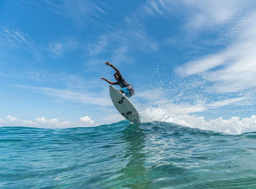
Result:
{"label": "white surfboard with black logos tilted up off the wave crest", "polygon": [[132,123],[140,123],[140,115],[134,105],[115,87],[109,86],[110,98],[119,113]]}

